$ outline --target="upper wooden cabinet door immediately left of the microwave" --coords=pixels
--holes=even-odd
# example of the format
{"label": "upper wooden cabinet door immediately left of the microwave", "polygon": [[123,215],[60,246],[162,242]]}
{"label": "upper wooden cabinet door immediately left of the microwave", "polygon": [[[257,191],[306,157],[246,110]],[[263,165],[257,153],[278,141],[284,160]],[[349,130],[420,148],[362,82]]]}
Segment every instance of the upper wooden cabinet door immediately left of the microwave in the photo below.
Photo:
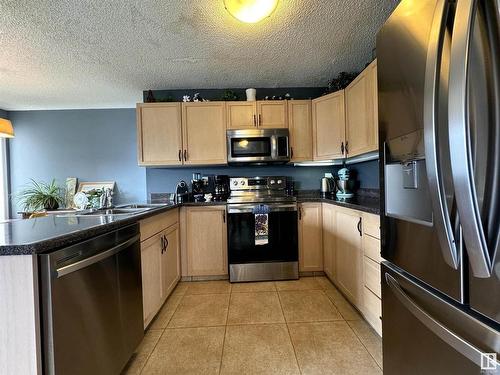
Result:
{"label": "upper wooden cabinet door immediately left of the microwave", "polygon": [[225,103],[183,103],[182,109],[184,164],[227,163]]}

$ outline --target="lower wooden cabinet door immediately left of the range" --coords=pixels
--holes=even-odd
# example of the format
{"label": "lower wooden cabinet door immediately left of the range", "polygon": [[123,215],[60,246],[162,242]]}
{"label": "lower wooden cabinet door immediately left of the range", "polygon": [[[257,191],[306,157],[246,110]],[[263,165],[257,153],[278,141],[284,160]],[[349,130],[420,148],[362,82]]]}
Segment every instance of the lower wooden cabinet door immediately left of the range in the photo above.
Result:
{"label": "lower wooden cabinet door immediately left of the range", "polygon": [[226,207],[186,208],[188,276],[227,275]]}

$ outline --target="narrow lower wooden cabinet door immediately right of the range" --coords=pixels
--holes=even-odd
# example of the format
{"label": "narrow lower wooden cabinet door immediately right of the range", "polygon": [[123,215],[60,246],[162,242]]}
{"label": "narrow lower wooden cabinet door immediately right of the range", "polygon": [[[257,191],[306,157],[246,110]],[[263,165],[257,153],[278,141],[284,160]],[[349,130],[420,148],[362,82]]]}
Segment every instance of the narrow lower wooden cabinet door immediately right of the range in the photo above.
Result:
{"label": "narrow lower wooden cabinet door immediately right of the range", "polygon": [[299,270],[323,271],[321,203],[303,203],[299,210]]}

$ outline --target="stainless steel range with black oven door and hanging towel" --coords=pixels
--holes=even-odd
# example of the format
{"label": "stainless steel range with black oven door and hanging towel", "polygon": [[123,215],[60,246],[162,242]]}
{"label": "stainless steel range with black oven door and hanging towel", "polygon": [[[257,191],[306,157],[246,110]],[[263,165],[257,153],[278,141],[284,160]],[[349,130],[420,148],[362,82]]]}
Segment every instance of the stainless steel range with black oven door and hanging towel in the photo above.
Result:
{"label": "stainless steel range with black oven door and hanging towel", "polygon": [[298,279],[297,200],[286,177],[231,178],[230,190],[230,281]]}

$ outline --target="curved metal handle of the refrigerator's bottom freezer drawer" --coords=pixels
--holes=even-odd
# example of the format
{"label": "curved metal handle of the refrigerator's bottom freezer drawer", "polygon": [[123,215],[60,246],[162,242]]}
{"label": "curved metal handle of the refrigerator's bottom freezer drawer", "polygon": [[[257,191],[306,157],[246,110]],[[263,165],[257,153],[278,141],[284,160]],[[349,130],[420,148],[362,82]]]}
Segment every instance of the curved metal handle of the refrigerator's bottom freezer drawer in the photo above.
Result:
{"label": "curved metal handle of the refrigerator's bottom freezer drawer", "polygon": [[[468,358],[478,366],[482,365],[483,352],[474,345],[468,343],[460,336],[450,331],[446,326],[434,319],[429,313],[417,305],[401,288],[399,283],[389,273],[385,273],[385,281],[392,290],[396,298],[401,302],[412,315],[423,325],[436,334],[441,340],[453,347],[457,352]],[[500,365],[500,364],[499,364]]]}

